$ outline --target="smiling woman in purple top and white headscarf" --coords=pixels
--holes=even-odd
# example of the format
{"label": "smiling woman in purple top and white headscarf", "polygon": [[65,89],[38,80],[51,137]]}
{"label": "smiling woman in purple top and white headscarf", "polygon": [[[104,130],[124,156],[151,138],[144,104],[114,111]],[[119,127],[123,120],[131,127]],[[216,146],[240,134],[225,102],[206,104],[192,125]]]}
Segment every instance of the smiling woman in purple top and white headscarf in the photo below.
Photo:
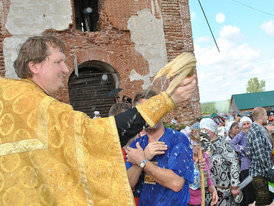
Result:
{"label": "smiling woman in purple top and white headscarf", "polygon": [[[247,156],[247,132],[252,126],[252,120],[249,117],[240,118],[241,133],[238,133],[231,141],[232,147],[240,156],[240,181],[243,181],[249,175],[250,159]],[[255,201],[252,183],[242,191],[244,198],[242,205],[247,206]]]}

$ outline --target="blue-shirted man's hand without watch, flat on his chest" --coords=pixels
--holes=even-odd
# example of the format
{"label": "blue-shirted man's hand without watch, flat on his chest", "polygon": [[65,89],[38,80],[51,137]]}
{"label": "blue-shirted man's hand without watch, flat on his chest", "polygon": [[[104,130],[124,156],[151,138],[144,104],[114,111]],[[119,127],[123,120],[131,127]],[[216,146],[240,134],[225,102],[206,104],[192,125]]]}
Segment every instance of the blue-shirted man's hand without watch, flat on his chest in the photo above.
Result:
{"label": "blue-shirted man's hand without watch, flat on his chest", "polygon": [[154,141],[149,143],[145,148],[145,157],[151,160],[155,155],[163,155],[167,150],[167,145],[163,141]]}

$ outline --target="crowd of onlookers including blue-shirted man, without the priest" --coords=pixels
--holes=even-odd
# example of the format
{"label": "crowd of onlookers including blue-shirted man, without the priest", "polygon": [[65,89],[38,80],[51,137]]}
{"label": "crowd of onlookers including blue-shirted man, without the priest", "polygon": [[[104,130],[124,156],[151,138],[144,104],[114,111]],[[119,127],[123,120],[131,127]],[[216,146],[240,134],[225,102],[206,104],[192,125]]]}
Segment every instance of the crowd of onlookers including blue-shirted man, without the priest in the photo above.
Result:
{"label": "crowd of onlookers including blue-shirted man, without the priest", "polygon": [[[154,91],[141,91],[133,106],[153,95]],[[173,122],[175,130],[165,128],[161,120],[128,142],[123,154],[136,205],[201,205],[198,143],[191,139],[192,130],[197,129],[210,139],[211,150],[203,150],[199,161],[207,171],[206,205],[274,205],[274,190],[269,189],[266,174],[273,170],[274,126],[268,124],[265,109],[254,108],[252,116],[219,117],[223,121],[217,118],[196,119],[195,124],[183,130],[179,130],[178,122]],[[192,150],[180,133],[188,138]],[[191,156],[193,161],[188,158]],[[139,165],[144,160],[144,165]],[[185,169],[190,170],[192,163],[193,172],[188,174]],[[248,176],[253,181],[240,191],[240,182]]]}

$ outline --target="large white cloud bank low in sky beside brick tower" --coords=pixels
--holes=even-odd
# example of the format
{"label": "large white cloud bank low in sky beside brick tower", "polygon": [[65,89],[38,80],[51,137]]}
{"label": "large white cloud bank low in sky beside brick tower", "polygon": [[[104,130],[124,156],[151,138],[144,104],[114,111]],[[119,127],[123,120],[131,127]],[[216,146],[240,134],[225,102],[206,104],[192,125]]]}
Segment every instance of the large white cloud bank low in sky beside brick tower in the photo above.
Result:
{"label": "large white cloud bank low in sky beside brick tower", "polygon": [[266,89],[274,88],[274,59],[265,59],[259,51],[232,36],[244,40],[240,28],[221,28],[216,39],[220,52],[216,45],[194,45],[201,102],[229,100],[232,94],[245,93],[247,81],[253,77],[266,80]]}

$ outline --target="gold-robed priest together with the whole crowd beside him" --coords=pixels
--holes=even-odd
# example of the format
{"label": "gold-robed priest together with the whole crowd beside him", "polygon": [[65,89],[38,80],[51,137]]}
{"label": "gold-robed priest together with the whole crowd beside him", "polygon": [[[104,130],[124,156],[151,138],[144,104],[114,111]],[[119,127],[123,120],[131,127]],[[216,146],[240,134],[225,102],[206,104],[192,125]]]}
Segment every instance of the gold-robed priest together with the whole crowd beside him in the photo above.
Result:
{"label": "gold-robed priest together with the whole crowd beside him", "polygon": [[166,128],[164,115],[195,91],[192,75],[92,119],[51,97],[69,73],[64,49],[55,36],[28,38],[14,61],[20,79],[0,78],[0,205],[239,205],[247,176],[240,204],[271,204],[274,126],[264,108],[225,122],[224,134],[211,118]]}

